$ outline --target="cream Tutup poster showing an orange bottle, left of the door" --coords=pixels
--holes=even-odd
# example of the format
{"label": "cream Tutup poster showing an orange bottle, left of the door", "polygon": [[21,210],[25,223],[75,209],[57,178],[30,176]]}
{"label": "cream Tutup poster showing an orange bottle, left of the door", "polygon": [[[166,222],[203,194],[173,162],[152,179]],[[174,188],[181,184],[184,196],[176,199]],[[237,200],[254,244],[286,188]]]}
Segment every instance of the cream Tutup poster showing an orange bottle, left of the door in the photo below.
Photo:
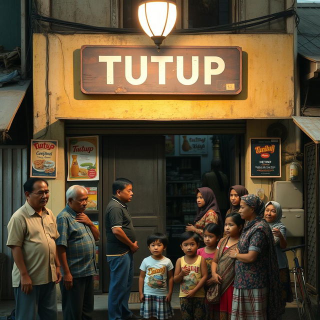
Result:
{"label": "cream Tutup poster showing an orange bottle, left of the door", "polygon": [[98,136],[67,138],[68,181],[98,180]]}

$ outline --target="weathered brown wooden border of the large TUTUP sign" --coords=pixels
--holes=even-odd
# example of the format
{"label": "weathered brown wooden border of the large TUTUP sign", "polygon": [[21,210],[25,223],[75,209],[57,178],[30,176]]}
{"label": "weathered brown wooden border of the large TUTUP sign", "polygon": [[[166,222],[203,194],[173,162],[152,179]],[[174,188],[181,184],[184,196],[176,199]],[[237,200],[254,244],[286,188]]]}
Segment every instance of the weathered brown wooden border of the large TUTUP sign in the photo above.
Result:
{"label": "weathered brown wooden border of the large TUTUP sign", "polygon": [[[88,90],[88,87],[84,85],[84,82],[86,82],[85,79],[83,79],[83,77],[87,77],[88,80],[87,81],[96,81],[97,78],[99,78],[99,76],[97,76],[96,74],[91,74],[88,70],[87,67],[83,66],[83,51],[85,50],[85,48],[90,48],[90,47],[96,47],[96,48],[114,48],[114,49],[121,49],[121,48],[129,48],[129,49],[134,49],[134,48],[147,48],[147,49],[151,49],[155,51],[154,46],[151,45],[92,45],[92,44],[85,44],[82,45],[80,48],[80,89],[83,93],[85,94],[197,94],[197,95],[202,95],[202,94],[213,94],[213,95],[235,95],[238,94],[239,92],[241,92],[242,90],[242,48],[239,46],[201,46],[201,45],[194,45],[194,46],[178,46],[178,45],[163,45],[161,46],[161,51],[160,53],[158,53],[159,55],[161,53],[163,53],[163,51],[165,49],[236,49],[238,51],[239,54],[239,65],[237,65],[236,70],[238,74],[238,81],[239,81],[239,85],[238,87],[234,86],[234,83],[231,83],[234,80],[234,75],[231,77],[232,80],[229,80],[228,82],[226,80],[216,80],[219,81],[219,83],[217,83],[217,86],[221,86],[221,88],[218,90],[216,89],[216,91],[210,91],[207,92],[205,90],[201,90],[201,91],[192,91],[191,90],[191,85],[184,85],[185,86],[185,90],[184,91],[177,91],[177,90],[172,90],[172,91],[154,91],[154,87],[155,84],[154,83],[147,83],[146,89],[143,91],[128,91],[125,87],[125,84],[123,84],[123,81],[121,81],[121,83],[119,84],[114,84],[113,88],[110,90],[97,90],[97,91],[93,91],[93,90]],[[200,52],[200,51],[199,51]],[[156,51],[154,52],[154,55],[156,55]],[[116,55],[116,54],[115,54]],[[91,61],[91,59],[88,60],[89,62],[87,64],[93,64],[93,62]],[[122,63],[123,61],[121,61]],[[151,63],[151,62],[149,62]],[[198,65],[199,67],[199,65]],[[101,69],[101,68],[99,68]],[[223,70],[224,72],[225,70]],[[112,67],[112,72],[113,72],[113,67]],[[140,71],[139,71],[140,72]],[[229,69],[228,69],[229,72]],[[124,75],[123,75],[123,79],[124,79]],[[225,83],[223,83],[225,82]],[[143,85],[143,84],[140,84]],[[161,84],[157,84],[158,86],[160,86]],[[181,84],[182,87],[183,84]],[[233,85],[233,87],[232,87]],[[131,85],[132,86],[132,85]],[[134,85],[133,85],[134,86]],[[133,87],[132,86],[132,87]],[[166,87],[170,87],[169,84],[165,85]],[[222,87],[226,87],[225,89],[222,89]],[[147,90],[147,88],[152,88],[153,90]],[[163,86],[162,86],[163,87]]]}

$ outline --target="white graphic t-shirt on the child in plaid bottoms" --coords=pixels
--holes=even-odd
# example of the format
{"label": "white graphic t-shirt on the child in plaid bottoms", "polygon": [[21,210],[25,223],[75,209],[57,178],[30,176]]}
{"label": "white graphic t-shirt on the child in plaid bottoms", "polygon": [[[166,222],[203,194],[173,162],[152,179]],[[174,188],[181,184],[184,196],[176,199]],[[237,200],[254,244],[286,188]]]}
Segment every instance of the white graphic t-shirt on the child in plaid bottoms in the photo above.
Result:
{"label": "white graphic t-shirt on the child in plaid bottoms", "polygon": [[145,271],[143,293],[150,295],[167,295],[167,271],[173,269],[173,264],[167,257],[155,260],[152,256],[143,259],[140,270]]}

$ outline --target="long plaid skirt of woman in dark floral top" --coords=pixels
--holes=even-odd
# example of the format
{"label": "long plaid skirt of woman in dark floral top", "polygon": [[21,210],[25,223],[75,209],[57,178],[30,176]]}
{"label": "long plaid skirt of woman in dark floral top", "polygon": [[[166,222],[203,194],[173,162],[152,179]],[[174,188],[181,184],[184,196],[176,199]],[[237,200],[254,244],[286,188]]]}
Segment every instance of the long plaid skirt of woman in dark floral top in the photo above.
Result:
{"label": "long plaid skirt of woman in dark floral top", "polygon": [[231,320],[267,320],[268,299],[266,287],[259,289],[233,289]]}

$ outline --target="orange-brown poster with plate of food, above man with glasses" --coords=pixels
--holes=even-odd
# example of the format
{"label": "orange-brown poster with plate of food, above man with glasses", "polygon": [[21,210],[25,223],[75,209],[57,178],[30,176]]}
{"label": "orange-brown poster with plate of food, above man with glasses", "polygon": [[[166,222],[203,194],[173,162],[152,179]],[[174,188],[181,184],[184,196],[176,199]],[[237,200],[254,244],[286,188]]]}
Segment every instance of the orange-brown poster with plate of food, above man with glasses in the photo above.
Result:
{"label": "orange-brown poster with plate of food, above man with glasses", "polygon": [[57,140],[31,139],[31,177],[56,177],[57,146]]}

